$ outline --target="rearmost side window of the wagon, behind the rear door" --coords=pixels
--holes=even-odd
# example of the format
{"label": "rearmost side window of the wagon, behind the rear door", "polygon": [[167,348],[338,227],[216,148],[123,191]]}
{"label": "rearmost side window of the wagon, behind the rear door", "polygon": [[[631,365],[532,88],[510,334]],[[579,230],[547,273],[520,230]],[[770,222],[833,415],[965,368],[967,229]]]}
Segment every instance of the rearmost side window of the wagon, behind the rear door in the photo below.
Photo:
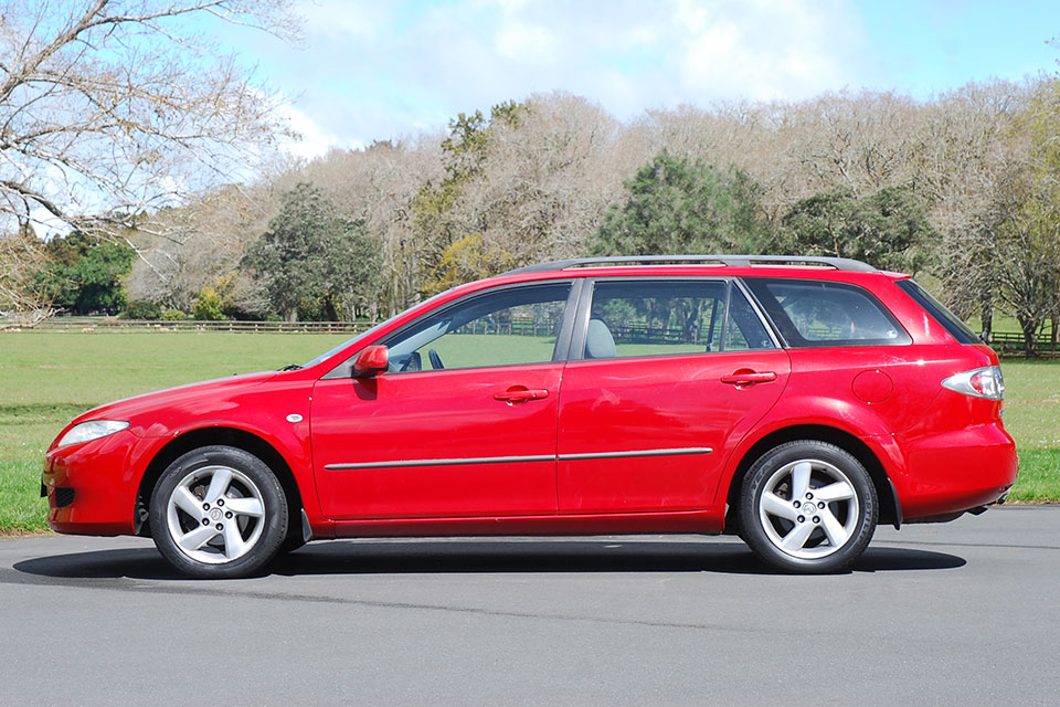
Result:
{"label": "rearmost side window of the wagon, behind the rear door", "polygon": [[788,346],[901,346],[912,339],[871,293],[815,279],[751,278],[746,284]]}

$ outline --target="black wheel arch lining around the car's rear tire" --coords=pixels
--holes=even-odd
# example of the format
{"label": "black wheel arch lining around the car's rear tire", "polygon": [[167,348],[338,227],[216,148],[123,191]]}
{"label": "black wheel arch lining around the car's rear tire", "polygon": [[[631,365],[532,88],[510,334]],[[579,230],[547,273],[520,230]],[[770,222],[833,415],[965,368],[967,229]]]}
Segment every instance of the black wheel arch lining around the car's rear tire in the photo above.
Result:
{"label": "black wheel arch lining around the car's rear tire", "polygon": [[736,507],[740,498],[740,492],[743,488],[743,479],[752,465],[766,452],[773,447],[794,442],[796,440],[816,440],[835,444],[839,449],[848,452],[865,466],[876,486],[876,494],[880,503],[879,524],[890,524],[895,528],[902,523],[902,507],[898,499],[898,493],[894,485],[887,474],[882,462],[875,452],[854,434],[823,424],[796,424],[766,434],[755,442],[741,457],[732,478],[729,482],[729,492],[725,496],[725,529],[734,531],[736,528]]}

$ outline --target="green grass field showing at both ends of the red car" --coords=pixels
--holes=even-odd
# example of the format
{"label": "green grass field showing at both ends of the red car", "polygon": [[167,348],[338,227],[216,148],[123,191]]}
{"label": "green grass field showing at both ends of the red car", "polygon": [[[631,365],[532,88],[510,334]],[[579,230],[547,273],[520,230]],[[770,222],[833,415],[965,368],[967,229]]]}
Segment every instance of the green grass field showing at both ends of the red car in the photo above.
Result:
{"label": "green grass field showing at both ends of the red car", "polygon": [[[44,450],[76,414],[149,390],[305,362],[346,338],[0,333],[0,534],[45,528]],[[1060,361],[1006,360],[1001,368],[1005,424],[1020,455],[1013,499],[1060,500]]]}

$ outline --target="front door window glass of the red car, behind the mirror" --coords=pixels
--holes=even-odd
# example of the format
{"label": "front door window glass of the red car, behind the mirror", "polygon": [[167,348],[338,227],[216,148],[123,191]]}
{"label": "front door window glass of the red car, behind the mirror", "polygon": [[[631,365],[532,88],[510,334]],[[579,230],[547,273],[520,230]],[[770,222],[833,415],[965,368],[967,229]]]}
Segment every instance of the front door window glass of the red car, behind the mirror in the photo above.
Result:
{"label": "front door window glass of the red car, behind the mirror", "polygon": [[416,321],[382,344],[390,372],[551,361],[570,283],[476,295]]}

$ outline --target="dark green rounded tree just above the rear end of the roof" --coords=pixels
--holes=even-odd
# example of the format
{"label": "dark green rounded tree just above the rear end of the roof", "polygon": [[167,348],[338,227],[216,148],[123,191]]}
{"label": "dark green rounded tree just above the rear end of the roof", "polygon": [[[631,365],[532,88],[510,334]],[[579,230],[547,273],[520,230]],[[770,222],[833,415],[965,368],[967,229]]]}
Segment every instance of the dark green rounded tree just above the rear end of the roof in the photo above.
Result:
{"label": "dark green rounded tree just above the rear end of the roof", "polygon": [[884,187],[857,199],[845,190],[796,202],[783,219],[781,250],[866,261],[882,270],[916,273],[931,260],[937,234],[909,190]]}

